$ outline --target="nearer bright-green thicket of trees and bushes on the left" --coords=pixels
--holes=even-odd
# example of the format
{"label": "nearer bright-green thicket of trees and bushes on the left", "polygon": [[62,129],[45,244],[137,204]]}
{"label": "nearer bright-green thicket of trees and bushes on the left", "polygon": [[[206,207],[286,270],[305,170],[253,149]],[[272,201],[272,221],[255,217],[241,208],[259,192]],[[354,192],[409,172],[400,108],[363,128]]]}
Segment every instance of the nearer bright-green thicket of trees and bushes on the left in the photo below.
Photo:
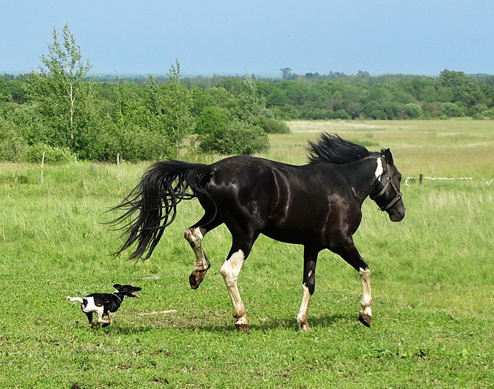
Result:
{"label": "nearer bright-green thicket of trees and bushes on the left", "polygon": [[203,153],[252,154],[267,134],[289,131],[246,78],[236,93],[188,88],[178,60],[165,82],[96,82],[65,26],[53,30],[39,71],[0,78],[0,160],[127,161],[178,158],[184,145]]}

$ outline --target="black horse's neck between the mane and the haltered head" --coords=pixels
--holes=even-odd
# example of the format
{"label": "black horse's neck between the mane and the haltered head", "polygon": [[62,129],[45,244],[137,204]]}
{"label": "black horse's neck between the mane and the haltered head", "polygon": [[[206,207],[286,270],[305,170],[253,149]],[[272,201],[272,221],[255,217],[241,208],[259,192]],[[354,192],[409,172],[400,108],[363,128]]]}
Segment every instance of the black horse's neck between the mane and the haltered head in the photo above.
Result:
{"label": "black horse's neck between the mane and the haltered head", "polygon": [[340,165],[344,177],[361,202],[371,193],[377,166],[377,157],[373,156]]}

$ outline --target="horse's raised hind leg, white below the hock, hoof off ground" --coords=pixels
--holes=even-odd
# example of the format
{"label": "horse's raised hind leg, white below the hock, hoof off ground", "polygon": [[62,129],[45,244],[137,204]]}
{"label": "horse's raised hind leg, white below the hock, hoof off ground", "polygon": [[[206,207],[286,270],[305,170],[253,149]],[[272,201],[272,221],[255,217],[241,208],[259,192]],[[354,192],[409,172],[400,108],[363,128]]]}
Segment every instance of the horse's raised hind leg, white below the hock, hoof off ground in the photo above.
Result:
{"label": "horse's raised hind leg, white below the hock, hoof off ground", "polygon": [[194,261],[194,270],[189,276],[189,283],[192,289],[199,288],[199,285],[206,277],[206,272],[211,266],[203,249],[203,238],[206,232],[212,230],[221,224],[221,219],[214,213],[208,213],[192,227],[187,228],[184,232],[184,238],[189,242],[196,260]]}

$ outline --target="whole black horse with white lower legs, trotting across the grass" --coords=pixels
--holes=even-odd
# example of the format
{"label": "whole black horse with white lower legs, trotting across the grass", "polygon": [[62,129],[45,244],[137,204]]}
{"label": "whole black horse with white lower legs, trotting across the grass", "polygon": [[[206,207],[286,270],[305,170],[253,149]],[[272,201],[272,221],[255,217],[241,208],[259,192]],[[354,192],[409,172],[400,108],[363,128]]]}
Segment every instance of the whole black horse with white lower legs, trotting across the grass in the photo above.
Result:
{"label": "whole black horse with white lower legs, trotting across the grass", "polygon": [[229,157],[211,165],[171,160],[154,163],[123,202],[111,209],[124,211],[112,223],[126,222],[120,228],[126,240],[116,254],[137,241],[130,258],[148,259],[175,218],[177,204],[198,198],[205,215],[184,232],[196,255],[189,282],[197,289],[206,276],[210,264],[203,238],[225,223],[232,246],[221,274],[237,328],[248,332],[237,278],[259,234],[304,246],[303,298],[297,317],[304,330],[310,329],[307,308],[314,293],[317,257],[323,249],[338,254],[359,272],[359,320],[370,326],[371,272],[352,235],[368,196],[392,221],[403,219],[401,174],[389,149],[370,152],[338,135],[321,134],[316,143],[309,142],[308,151],[309,163],[303,166],[251,156]]}

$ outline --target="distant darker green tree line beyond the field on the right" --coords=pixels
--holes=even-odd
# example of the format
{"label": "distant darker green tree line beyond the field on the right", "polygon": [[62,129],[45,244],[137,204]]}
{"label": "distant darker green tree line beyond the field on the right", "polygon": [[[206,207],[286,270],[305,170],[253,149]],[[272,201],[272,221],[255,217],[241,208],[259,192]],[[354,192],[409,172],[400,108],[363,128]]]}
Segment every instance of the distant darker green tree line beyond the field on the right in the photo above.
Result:
{"label": "distant darker green tree line beyond the field on the right", "polygon": [[[286,72],[286,69],[282,69]],[[191,79],[187,82],[203,83]],[[219,80],[235,91],[240,80]],[[494,76],[443,70],[437,77],[367,72],[257,79],[259,95],[277,118],[289,119],[494,119]]]}

